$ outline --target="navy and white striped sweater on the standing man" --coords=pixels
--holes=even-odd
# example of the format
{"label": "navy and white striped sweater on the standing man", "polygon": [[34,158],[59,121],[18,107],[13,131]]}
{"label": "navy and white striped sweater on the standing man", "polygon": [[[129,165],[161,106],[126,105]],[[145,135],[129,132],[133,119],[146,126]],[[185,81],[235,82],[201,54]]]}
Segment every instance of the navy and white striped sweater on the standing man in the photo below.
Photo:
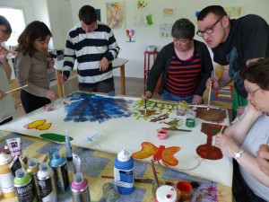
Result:
{"label": "navy and white striped sweater on the standing man", "polygon": [[[85,32],[79,23],[67,34],[64,75],[70,75],[76,59],[79,86],[88,88],[94,83],[110,82],[113,79],[111,61],[117,57],[118,52],[117,41],[108,25],[98,22],[96,30]],[[110,62],[105,72],[100,71],[100,60],[103,57]]]}

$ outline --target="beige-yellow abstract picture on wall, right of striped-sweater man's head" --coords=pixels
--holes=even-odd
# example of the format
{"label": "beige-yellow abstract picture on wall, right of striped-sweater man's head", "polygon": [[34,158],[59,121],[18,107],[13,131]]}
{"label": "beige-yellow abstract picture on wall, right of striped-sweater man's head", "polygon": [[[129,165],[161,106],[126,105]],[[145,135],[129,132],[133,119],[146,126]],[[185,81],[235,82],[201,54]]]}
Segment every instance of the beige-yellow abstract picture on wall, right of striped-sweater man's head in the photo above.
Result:
{"label": "beige-yellow abstract picture on wall, right of striped-sweater man's head", "polygon": [[120,29],[124,23],[124,5],[122,2],[106,3],[107,24],[111,29]]}

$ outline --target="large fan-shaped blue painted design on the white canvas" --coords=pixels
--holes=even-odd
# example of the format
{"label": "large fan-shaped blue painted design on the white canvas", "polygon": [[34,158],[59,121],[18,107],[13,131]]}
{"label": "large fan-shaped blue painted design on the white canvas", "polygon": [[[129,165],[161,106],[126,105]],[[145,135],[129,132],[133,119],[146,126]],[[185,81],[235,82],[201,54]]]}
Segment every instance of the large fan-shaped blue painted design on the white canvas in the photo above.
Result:
{"label": "large fan-shaped blue painted design on the white canvas", "polygon": [[118,119],[132,115],[129,107],[133,101],[82,92],[75,92],[67,97],[72,102],[65,106],[65,121],[98,121],[101,123],[108,119]]}

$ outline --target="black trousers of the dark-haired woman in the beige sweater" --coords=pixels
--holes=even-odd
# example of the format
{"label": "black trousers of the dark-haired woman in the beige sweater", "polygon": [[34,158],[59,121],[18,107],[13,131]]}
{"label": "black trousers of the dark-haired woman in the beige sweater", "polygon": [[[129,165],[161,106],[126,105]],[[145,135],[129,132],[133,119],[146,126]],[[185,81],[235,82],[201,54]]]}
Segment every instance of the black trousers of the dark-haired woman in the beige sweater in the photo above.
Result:
{"label": "black trousers of the dark-haired woman in the beige sweater", "polygon": [[33,110],[38,110],[44,105],[51,103],[48,98],[35,96],[33,94],[30,94],[29,92],[25,92],[24,90],[21,91],[21,100],[22,107],[27,114]]}

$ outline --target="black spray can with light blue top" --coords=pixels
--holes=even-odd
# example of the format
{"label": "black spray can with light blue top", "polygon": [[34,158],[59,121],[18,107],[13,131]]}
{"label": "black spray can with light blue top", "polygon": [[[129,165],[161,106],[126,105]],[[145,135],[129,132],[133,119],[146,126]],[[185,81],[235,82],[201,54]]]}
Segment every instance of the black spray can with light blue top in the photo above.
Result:
{"label": "black spray can with light blue top", "polygon": [[65,157],[63,157],[59,152],[55,152],[52,160],[50,161],[50,165],[54,171],[57,192],[64,193],[65,189],[69,187]]}

